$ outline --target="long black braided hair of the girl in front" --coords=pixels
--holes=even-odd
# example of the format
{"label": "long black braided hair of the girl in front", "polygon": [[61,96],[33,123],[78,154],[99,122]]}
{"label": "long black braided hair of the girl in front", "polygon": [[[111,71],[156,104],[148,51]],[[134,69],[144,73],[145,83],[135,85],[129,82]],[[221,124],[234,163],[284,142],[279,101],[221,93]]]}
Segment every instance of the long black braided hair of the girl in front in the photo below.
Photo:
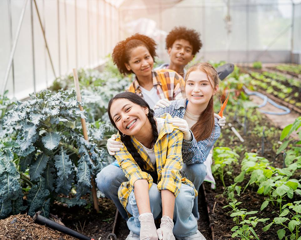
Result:
{"label": "long black braided hair of the girl in front", "polygon": [[135,104],[137,104],[141,107],[147,107],[148,108],[149,113],[148,113],[147,118],[150,121],[150,124],[151,124],[151,127],[152,127],[152,133],[153,133],[153,137],[154,137],[154,139],[152,141],[153,144],[155,144],[157,139],[158,139],[158,130],[157,130],[156,121],[154,119],[154,110],[150,109],[150,106],[148,105],[148,103],[145,102],[145,100],[143,98],[140,98],[137,94],[131,93],[131,92],[124,92],[124,93],[117,94],[114,98],[111,98],[111,100],[109,102],[109,106],[108,106],[108,114],[109,114],[110,121],[111,121],[112,125],[118,130],[118,132],[120,134],[120,139],[124,143],[126,149],[132,155],[135,162],[138,164],[139,168],[143,172],[149,173],[150,176],[153,178],[153,182],[157,183],[158,174],[145,169],[145,167],[146,167],[145,161],[141,158],[140,154],[137,152],[137,149],[134,147],[134,145],[131,141],[131,137],[129,135],[123,136],[123,133],[120,132],[120,130],[117,128],[117,126],[116,126],[116,124],[115,124],[115,122],[112,118],[112,115],[110,113],[112,103],[116,99],[120,99],[120,98],[127,99],[127,100],[131,101],[132,103],[135,103]]}

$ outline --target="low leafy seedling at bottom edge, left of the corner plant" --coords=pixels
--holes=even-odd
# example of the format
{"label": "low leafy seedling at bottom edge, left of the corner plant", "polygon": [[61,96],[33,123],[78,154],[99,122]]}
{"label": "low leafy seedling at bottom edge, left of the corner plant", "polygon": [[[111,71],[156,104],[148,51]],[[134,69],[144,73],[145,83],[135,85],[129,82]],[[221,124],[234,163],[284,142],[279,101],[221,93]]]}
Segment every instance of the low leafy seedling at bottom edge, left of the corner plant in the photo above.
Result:
{"label": "low leafy seedling at bottom edge, left of the corner plant", "polygon": [[[232,237],[240,237],[242,240],[246,239],[258,239],[258,236],[256,232],[254,231],[253,227],[255,228],[258,222],[266,222],[269,220],[269,218],[258,218],[258,217],[249,217],[248,219],[245,219],[247,215],[250,214],[255,214],[258,211],[251,211],[251,212],[246,212],[246,211],[239,211],[239,212],[233,212],[230,216],[231,217],[236,217],[238,220],[239,217],[242,218],[242,222],[239,224],[242,226],[235,226],[232,227],[231,231],[234,232],[232,234]],[[237,223],[238,225],[238,223]],[[252,226],[249,226],[252,225]],[[251,235],[253,234],[253,235]]]}

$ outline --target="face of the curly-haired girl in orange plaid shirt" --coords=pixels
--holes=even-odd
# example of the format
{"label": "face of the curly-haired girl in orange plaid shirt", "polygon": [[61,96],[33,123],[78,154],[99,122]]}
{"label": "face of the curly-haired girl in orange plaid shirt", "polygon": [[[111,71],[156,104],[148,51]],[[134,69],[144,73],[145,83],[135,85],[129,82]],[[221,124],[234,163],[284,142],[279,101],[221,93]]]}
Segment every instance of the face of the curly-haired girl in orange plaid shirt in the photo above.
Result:
{"label": "face of the curly-haired girl in orange plaid shirt", "polygon": [[132,70],[137,78],[149,76],[154,67],[154,59],[145,46],[138,46],[130,51],[129,62],[125,63],[128,71]]}

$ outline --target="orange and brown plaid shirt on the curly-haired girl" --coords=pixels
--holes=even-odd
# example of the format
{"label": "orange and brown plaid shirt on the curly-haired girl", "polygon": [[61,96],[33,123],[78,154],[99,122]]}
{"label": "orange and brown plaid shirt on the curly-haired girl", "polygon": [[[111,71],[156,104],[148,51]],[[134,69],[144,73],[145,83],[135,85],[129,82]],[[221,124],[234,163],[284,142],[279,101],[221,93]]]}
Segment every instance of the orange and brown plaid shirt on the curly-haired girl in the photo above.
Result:
{"label": "orange and brown plaid shirt on the curly-haired girl", "polygon": [[[168,98],[168,100],[177,100],[185,97],[185,82],[181,75],[173,70],[160,69],[153,70],[153,85],[157,88],[157,94],[160,99]],[[126,92],[136,93],[143,98],[141,93],[138,79],[135,76],[135,80],[131,83],[130,87],[125,90]]]}

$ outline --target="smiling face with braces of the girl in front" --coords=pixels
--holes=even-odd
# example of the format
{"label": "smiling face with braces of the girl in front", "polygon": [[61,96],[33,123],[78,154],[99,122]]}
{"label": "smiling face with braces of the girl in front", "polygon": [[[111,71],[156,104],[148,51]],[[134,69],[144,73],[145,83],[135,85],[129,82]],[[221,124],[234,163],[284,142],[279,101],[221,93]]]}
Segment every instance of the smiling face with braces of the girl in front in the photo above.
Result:
{"label": "smiling face with braces of the girl in front", "polygon": [[149,110],[146,106],[139,106],[125,98],[116,99],[110,108],[112,119],[118,130],[129,136],[139,136],[145,130],[145,123],[149,123],[146,116]]}

